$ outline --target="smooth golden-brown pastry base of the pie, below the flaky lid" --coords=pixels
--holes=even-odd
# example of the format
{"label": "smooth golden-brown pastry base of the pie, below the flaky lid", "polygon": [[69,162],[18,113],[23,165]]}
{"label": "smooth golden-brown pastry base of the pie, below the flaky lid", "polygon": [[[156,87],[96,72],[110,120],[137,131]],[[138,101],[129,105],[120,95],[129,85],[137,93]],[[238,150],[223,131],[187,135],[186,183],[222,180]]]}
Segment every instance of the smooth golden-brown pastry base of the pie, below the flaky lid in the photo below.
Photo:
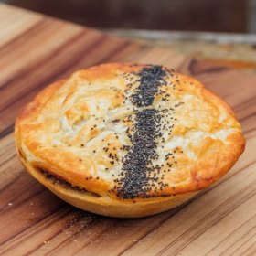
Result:
{"label": "smooth golden-brown pastry base of the pie, below the flaky lid", "polygon": [[[185,203],[190,198],[197,195],[198,192],[184,193],[170,197],[160,198],[138,198],[136,200],[116,200],[111,197],[101,197],[92,194],[84,189],[77,189],[67,184],[55,182],[48,178],[39,169],[29,165],[21,158],[21,163],[27,169],[27,172],[34,176],[45,187],[55,195],[68,202],[69,204],[96,214],[116,218],[142,218],[165,210],[176,208]],[[64,182],[65,183],[65,182]]]}

